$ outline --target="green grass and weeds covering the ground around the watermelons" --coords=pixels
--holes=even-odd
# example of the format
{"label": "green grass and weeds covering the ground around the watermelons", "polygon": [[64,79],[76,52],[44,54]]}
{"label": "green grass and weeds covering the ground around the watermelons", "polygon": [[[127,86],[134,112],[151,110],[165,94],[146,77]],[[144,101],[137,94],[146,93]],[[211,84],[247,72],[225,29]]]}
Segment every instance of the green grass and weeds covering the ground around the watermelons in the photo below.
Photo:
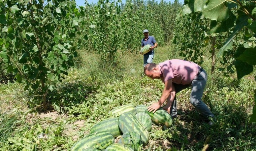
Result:
{"label": "green grass and weeds covering the ground around the watermelons", "polygon": [[[79,56],[79,64],[69,70],[58,91],[47,96],[53,111],[38,112],[22,84],[0,85],[0,104],[4,109],[0,123],[10,128],[1,133],[5,141],[0,141],[0,150],[70,150],[95,123],[108,118],[114,107],[150,105],[160,98],[164,86],[159,80],[145,77],[142,55],[118,53],[119,65],[104,69],[99,68],[98,55],[80,50]],[[155,50],[156,63],[172,58],[179,58],[174,46]],[[204,63],[202,66],[209,72],[210,60]],[[178,118],[165,131],[153,125],[150,143],[143,150],[201,150],[208,137],[207,150],[256,150],[256,124],[248,123],[256,89],[252,78],[255,75],[254,71],[237,82],[235,74],[217,80],[209,74],[203,101],[217,117],[212,127],[189,103],[189,89],[177,94]]]}

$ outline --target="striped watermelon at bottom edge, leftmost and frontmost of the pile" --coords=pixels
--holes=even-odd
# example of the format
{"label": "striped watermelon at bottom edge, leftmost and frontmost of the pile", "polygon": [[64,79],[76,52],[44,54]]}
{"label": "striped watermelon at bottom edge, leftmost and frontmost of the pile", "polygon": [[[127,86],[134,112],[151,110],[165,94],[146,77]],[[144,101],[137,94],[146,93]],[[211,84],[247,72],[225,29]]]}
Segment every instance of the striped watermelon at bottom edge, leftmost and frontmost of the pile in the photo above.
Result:
{"label": "striped watermelon at bottom edge, leftmost and frontmost of the pile", "polygon": [[107,148],[109,145],[113,144],[114,141],[115,141],[115,138],[111,133],[108,133],[108,132],[94,133],[76,142],[71,148],[71,151],[82,151],[83,149],[87,149],[87,148],[96,148],[96,149],[103,150]]}

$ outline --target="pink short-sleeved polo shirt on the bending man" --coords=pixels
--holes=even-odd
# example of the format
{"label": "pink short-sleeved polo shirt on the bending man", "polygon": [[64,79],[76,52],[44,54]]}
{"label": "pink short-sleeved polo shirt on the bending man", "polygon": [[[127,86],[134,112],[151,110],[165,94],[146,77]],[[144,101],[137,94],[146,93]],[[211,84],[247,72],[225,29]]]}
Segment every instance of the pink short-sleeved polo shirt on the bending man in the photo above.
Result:
{"label": "pink short-sleeved polo shirt on the bending man", "polygon": [[190,61],[172,59],[159,63],[159,68],[164,82],[172,79],[173,83],[189,85],[201,67]]}

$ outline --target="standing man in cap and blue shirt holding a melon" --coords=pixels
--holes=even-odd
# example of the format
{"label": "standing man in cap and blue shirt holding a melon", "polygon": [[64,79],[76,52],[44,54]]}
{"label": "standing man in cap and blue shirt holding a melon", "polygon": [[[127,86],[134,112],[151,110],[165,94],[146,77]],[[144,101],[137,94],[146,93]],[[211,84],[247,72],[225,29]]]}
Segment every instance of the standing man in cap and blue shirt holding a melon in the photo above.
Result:
{"label": "standing man in cap and blue shirt holding a melon", "polygon": [[141,40],[141,48],[150,44],[150,51],[143,56],[143,66],[145,67],[148,63],[153,62],[154,48],[157,47],[157,42],[153,36],[149,36],[149,30],[143,31],[144,38]]}

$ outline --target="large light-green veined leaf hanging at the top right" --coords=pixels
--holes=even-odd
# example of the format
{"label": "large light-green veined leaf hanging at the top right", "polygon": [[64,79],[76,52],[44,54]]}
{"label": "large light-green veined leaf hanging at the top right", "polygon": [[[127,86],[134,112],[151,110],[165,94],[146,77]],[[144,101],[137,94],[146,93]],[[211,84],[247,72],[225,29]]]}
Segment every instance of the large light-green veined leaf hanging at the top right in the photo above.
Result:
{"label": "large light-green veined leaf hanging at the top right", "polygon": [[207,5],[203,7],[203,16],[216,21],[228,19],[229,9],[225,4],[226,1],[227,0],[209,0]]}

